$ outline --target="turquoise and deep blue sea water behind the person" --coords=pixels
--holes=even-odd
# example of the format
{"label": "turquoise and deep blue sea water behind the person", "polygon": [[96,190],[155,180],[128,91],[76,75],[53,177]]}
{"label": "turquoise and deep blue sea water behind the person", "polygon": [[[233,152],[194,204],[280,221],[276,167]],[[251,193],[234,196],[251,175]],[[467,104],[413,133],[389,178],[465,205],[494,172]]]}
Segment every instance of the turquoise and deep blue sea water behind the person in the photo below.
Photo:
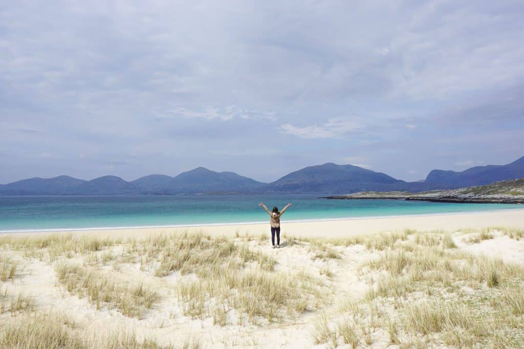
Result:
{"label": "turquoise and deep blue sea water behind the person", "polygon": [[321,195],[0,197],[0,231],[267,222],[258,206],[293,206],[282,221],[426,215],[522,208],[405,200],[328,200]]}

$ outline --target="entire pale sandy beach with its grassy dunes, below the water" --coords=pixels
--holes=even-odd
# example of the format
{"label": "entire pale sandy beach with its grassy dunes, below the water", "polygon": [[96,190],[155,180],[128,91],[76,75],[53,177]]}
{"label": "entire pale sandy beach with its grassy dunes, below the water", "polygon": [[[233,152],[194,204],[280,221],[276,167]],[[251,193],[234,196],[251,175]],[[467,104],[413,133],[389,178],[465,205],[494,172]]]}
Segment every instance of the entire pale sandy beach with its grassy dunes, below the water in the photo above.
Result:
{"label": "entire pale sandy beach with its grassy dunes, below the water", "polygon": [[[0,343],[56,333],[89,348],[524,343],[514,309],[524,304],[524,209],[282,221],[280,249],[268,230],[0,234]],[[417,324],[439,309],[449,310],[434,314],[439,323]]]}

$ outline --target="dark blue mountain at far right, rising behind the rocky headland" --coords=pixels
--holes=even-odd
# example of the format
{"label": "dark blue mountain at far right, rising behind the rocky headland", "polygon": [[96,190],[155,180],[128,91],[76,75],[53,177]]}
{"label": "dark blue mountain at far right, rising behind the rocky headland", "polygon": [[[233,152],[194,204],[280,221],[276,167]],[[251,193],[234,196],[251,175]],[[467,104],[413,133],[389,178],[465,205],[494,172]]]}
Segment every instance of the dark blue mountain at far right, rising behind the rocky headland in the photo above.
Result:
{"label": "dark blue mountain at far right, rising behind the rocky headland", "polygon": [[428,174],[425,183],[461,188],[520,177],[524,177],[524,156],[507,165],[476,166],[462,172],[433,170]]}

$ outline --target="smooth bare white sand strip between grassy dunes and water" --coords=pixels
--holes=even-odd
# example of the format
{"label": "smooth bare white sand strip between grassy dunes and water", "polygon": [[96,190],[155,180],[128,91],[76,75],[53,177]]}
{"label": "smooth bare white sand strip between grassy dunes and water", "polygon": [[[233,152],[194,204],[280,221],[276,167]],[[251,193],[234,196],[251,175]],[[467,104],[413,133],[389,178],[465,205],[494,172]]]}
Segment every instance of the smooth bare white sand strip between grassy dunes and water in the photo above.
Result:
{"label": "smooth bare white sand strip between grassy dunes and water", "polygon": [[[462,212],[420,216],[373,217],[337,220],[317,220],[305,222],[286,222],[282,220],[282,234],[304,238],[342,238],[352,235],[379,233],[384,231],[400,231],[415,229],[421,231],[456,230],[460,228],[484,228],[489,226],[505,226],[524,228],[524,207],[485,212]],[[133,237],[143,238],[150,234],[172,232],[205,232],[211,235],[233,236],[237,232],[253,235],[268,233],[269,223],[262,224],[217,224],[206,226],[188,226],[173,228],[122,228],[122,229],[82,229],[61,230],[59,233],[73,233],[97,237]],[[31,236],[49,234],[52,231],[8,232],[0,236]]]}

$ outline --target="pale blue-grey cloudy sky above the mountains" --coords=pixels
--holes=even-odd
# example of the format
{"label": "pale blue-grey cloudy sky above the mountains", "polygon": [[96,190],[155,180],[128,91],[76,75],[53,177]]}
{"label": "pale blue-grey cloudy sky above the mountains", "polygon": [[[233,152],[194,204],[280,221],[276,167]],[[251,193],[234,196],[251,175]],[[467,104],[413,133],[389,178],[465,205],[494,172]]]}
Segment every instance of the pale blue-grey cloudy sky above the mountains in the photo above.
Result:
{"label": "pale blue-grey cloudy sky above the mountains", "polygon": [[522,1],[0,4],[0,183],[524,155]]}

